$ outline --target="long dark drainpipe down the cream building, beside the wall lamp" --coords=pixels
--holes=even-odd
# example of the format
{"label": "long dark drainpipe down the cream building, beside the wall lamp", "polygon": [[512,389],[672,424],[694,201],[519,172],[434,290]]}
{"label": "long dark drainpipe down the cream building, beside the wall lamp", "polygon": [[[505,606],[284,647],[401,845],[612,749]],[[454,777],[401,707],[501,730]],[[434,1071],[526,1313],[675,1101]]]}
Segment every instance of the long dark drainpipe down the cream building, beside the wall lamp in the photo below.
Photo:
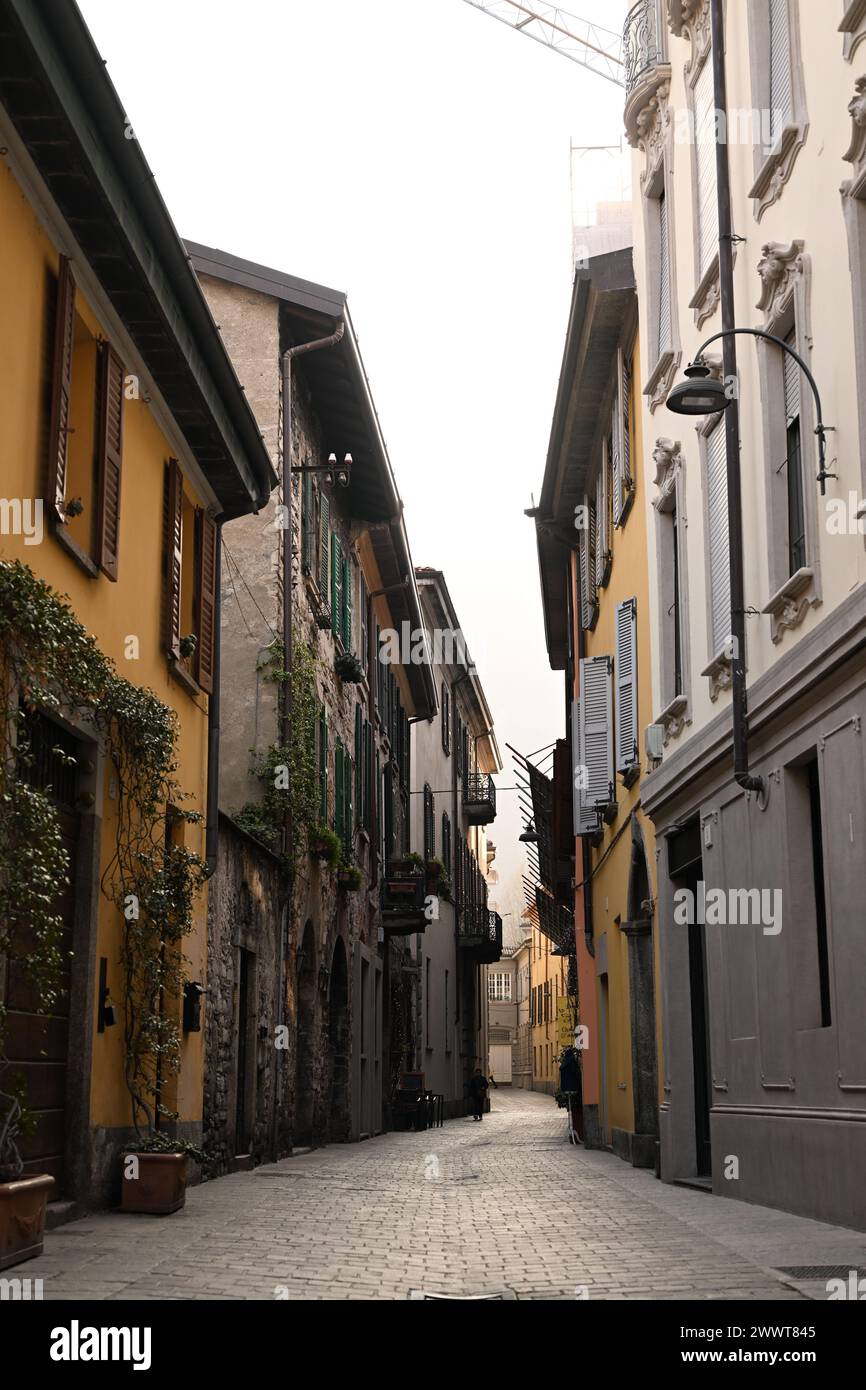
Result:
{"label": "long dark drainpipe down the cream building, beside the wall lamp", "polygon": [[[713,54],[713,100],[717,136],[727,129],[727,74],[724,63],[723,0],[710,0],[710,43]],[[721,295],[721,327],[734,328],[734,228],[731,225],[731,181],[727,143],[716,138],[716,188],[719,197],[719,289]],[[726,381],[737,381],[737,339],[723,339],[723,373]],[[724,411],[724,443],[727,452],[728,553],[731,584],[731,709],[734,726],[734,781],[746,791],[762,791],[763,778],[749,773],[749,724],[745,688],[745,584],[742,575],[742,495],[740,480],[740,402],[737,396]]]}

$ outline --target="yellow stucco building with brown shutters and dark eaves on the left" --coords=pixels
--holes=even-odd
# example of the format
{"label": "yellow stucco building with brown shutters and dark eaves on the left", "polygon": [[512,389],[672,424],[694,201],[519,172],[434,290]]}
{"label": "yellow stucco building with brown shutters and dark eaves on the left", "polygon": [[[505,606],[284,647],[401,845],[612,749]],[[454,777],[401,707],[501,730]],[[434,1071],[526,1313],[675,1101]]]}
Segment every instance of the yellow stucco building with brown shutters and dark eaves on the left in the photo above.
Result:
{"label": "yellow stucco building with brown shutters and dark eaves on the left", "polygon": [[[17,81],[0,83],[0,562],[67,595],[117,674],[174,710],[177,783],[202,820],[172,823],[165,808],[167,834],[204,860],[215,844],[220,524],[257,510],[275,480],[76,7],[57,7],[50,32],[42,6],[4,8]],[[124,917],[100,887],[121,794],[86,710],[35,710],[31,726],[31,780],[50,791],[70,856],[57,910],[72,956],[49,1017],[0,980],[8,1055],[38,1122],[26,1172],[53,1173],[54,1197],[97,1204],[117,1190],[131,1133]],[[57,748],[75,762],[61,767]],[[203,988],[206,908],[204,890],[183,942],[185,974]],[[182,1042],[161,1101],[195,1140],[203,1033],[192,1015],[181,1024],[179,999],[165,1006]]]}

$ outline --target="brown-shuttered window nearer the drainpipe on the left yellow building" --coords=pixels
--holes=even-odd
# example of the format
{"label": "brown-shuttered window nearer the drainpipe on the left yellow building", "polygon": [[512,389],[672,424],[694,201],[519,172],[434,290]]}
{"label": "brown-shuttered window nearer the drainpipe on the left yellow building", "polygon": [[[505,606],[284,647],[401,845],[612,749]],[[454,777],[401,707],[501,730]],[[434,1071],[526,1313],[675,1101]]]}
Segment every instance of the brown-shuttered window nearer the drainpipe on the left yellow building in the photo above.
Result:
{"label": "brown-shuttered window nearer the drainpipe on the left yellow building", "polygon": [[170,459],[163,489],[163,649],[175,676],[211,694],[217,619],[217,525],[183,488]]}

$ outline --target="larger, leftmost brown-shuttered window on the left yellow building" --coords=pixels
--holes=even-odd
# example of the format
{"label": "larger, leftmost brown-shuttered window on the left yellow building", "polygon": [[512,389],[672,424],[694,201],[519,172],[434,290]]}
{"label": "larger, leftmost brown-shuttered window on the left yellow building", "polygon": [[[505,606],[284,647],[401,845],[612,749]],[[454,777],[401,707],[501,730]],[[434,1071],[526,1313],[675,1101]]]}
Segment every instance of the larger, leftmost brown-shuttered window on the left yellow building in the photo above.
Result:
{"label": "larger, leftmost brown-shuttered window on the left yellow building", "polygon": [[47,443],[47,509],[54,534],[89,574],[117,580],[124,366],[90,328],[60,257],[54,302]]}

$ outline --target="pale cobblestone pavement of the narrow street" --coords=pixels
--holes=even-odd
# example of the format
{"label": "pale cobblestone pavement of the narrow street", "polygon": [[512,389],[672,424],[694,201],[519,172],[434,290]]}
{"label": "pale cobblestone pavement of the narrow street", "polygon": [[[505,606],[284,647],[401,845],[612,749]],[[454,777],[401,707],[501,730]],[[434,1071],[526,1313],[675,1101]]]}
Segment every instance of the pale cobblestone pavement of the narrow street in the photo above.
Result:
{"label": "pale cobblestone pavement of the narrow street", "polygon": [[481,1125],[234,1173],[168,1218],[71,1222],[22,1273],[74,1300],[826,1297],[788,1265],[866,1265],[866,1234],[659,1183],[569,1144],[549,1097],[500,1087]]}

